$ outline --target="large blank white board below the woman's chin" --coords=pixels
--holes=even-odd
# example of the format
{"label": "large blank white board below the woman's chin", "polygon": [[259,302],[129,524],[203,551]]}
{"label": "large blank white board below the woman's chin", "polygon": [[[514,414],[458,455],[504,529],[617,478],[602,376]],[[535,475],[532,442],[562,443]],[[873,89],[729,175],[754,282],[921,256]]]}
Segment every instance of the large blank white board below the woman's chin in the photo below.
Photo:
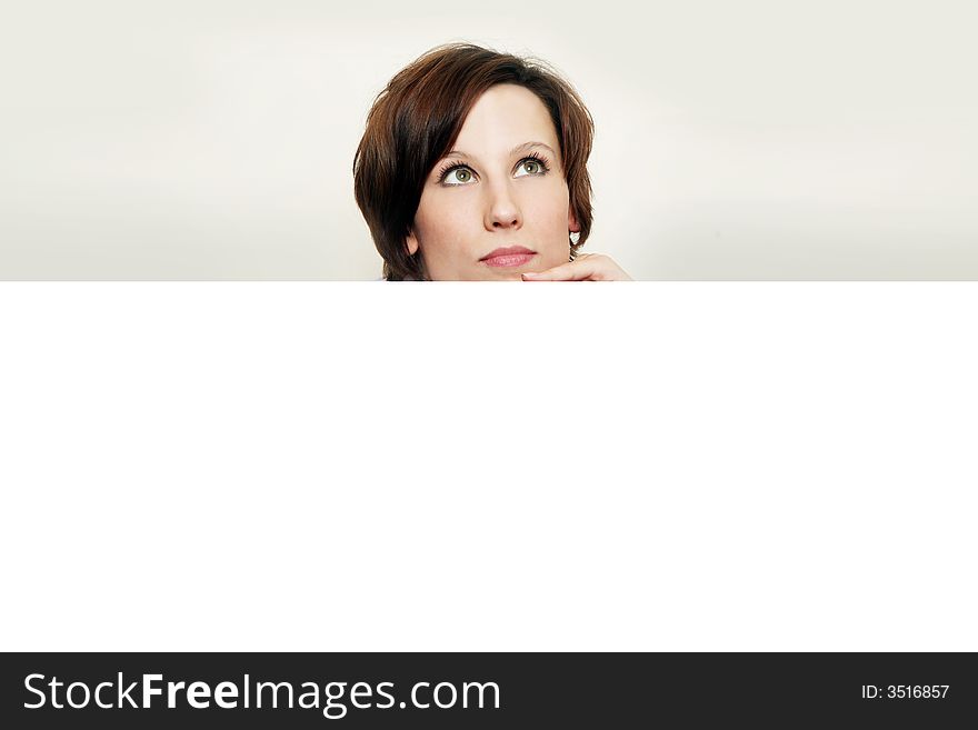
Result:
{"label": "large blank white board below the woman's chin", "polygon": [[975,651],[976,308],[2,284],[0,649]]}

